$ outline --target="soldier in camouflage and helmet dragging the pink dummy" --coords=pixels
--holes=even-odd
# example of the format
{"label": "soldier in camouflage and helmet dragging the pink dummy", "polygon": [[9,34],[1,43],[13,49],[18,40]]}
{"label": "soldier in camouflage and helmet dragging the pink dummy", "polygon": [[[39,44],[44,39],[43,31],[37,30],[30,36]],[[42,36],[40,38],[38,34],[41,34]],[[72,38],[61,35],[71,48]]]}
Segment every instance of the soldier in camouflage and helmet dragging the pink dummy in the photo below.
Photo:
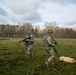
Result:
{"label": "soldier in camouflage and helmet dragging the pink dummy", "polygon": [[48,60],[45,62],[45,64],[48,66],[50,63],[54,64],[54,51],[53,47],[57,44],[57,42],[52,38],[53,31],[48,30],[47,35],[44,37],[44,44],[46,47],[46,51],[48,53]]}

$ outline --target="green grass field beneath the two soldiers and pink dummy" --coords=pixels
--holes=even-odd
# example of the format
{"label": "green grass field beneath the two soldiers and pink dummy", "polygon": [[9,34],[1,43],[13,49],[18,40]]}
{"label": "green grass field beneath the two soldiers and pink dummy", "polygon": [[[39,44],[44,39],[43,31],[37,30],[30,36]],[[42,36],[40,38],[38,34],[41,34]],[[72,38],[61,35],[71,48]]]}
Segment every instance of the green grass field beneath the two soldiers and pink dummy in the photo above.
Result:
{"label": "green grass field beneath the two soldiers and pink dummy", "polygon": [[[25,57],[24,43],[16,45],[21,39],[0,40],[0,75],[76,75],[76,63],[59,62],[55,53],[55,65],[45,66],[47,53],[42,39],[35,39],[33,59]],[[60,56],[76,59],[76,39],[56,39],[56,49]]]}

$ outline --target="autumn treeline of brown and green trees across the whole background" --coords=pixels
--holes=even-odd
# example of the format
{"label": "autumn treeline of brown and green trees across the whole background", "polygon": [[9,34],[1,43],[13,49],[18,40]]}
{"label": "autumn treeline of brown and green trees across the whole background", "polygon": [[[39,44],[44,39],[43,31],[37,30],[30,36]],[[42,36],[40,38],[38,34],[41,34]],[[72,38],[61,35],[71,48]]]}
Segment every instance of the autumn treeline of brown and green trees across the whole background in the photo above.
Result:
{"label": "autumn treeline of brown and green trees across the whole background", "polygon": [[43,37],[47,30],[53,30],[56,38],[76,38],[76,31],[72,28],[60,28],[56,22],[45,22],[45,28],[40,29],[39,26],[34,27],[31,23],[21,25],[0,24],[0,37],[25,37],[30,30],[35,37]]}

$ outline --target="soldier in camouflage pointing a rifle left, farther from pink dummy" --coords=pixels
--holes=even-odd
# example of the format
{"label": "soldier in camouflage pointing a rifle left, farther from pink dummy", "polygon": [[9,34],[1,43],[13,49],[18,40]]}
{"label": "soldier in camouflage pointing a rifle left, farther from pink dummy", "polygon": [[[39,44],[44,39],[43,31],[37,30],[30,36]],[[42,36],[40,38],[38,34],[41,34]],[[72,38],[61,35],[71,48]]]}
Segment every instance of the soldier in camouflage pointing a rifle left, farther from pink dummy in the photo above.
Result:
{"label": "soldier in camouflage pointing a rifle left, farther from pink dummy", "polygon": [[33,56],[32,47],[33,47],[33,44],[34,44],[33,35],[30,32],[28,32],[28,35],[23,40],[21,40],[20,42],[24,42],[26,47],[27,47],[26,56],[28,56],[29,58],[32,58],[32,56]]}

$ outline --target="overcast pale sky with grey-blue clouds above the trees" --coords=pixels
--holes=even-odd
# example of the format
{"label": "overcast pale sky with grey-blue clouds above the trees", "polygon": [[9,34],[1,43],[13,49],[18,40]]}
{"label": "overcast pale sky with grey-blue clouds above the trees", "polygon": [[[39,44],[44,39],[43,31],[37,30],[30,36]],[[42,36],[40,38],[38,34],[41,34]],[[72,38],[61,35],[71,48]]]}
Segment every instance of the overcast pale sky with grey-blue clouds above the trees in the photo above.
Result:
{"label": "overcast pale sky with grey-blue clouds above the trees", "polygon": [[76,0],[0,0],[0,24],[57,22],[76,27]]}

